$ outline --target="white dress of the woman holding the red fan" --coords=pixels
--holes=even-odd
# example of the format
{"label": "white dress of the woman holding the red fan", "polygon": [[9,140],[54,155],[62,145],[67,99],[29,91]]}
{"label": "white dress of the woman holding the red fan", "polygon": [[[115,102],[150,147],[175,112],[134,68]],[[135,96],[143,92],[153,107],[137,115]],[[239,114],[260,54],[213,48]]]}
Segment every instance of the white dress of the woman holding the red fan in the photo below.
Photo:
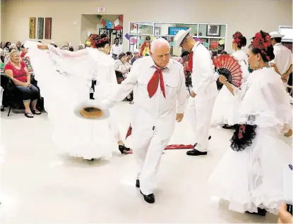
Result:
{"label": "white dress of the woman holding the red fan", "polygon": [[257,125],[256,137],[243,151],[227,150],[210,175],[212,195],[239,213],[258,207],[276,213],[285,199],[284,170],[292,163],[292,146],[282,141],[292,126],[292,109],[272,68],[253,71],[241,89],[238,123]]}

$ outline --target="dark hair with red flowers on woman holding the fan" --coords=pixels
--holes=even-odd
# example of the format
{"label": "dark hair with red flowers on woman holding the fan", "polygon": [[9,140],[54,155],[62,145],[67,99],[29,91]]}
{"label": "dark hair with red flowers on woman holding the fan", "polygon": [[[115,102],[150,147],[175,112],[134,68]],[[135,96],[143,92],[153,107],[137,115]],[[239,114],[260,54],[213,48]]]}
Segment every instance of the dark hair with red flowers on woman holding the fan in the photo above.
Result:
{"label": "dark hair with red flowers on woman holding the fan", "polygon": [[270,42],[270,35],[267,32],[261,30],[251,39],[252,42],[249,45],[249,49],[253,54],[261,54],[264,62],[272,61],[275,58],[274,48]]}

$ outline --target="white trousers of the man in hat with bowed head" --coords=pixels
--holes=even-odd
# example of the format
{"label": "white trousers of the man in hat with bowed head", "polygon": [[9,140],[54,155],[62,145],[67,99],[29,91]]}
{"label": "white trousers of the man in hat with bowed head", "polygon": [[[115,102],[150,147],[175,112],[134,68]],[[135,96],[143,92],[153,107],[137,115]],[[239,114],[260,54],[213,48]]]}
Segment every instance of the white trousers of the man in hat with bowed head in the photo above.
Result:
{"label": "white trousers of the man in hat with bowed head", "polygon": [[206,150],[208,148],[208,132],[210,130],[210,119],[214,103],[215,97],[213,99],[189,97],[186,115],[194,132],[194,142],[197,143],[196,149],[198,150]]}

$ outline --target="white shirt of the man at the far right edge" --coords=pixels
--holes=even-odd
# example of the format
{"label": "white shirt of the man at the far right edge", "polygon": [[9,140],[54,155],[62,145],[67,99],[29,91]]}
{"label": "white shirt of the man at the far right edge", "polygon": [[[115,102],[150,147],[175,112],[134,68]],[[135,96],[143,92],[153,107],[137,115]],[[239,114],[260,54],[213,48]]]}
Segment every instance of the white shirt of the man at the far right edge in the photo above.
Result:
{"label": "white shirt of the man at the far right edge", "polygon": [[271,63],[276,64],[280,75],[285,74],[292,64],[292,52],[286,46],[277,43],[274,45],[274,54],[275,59]]}

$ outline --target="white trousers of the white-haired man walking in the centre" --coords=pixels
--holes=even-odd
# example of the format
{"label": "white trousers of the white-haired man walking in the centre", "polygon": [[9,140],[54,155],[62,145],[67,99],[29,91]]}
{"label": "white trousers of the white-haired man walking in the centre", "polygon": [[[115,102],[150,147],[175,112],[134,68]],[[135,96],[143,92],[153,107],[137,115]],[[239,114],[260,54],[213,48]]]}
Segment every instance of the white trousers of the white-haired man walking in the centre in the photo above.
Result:
{"label": "white trousers of the white-haired man walking in the centre", "polygon": [[169,139],[162,139],[157,131],[153,137],[145,137],[140,133],[132,132],[133,156],[138,165],[138,180],[140,180],[140,191],[143,194],[153,194],[155,178],[160,166],[163,150]]}

